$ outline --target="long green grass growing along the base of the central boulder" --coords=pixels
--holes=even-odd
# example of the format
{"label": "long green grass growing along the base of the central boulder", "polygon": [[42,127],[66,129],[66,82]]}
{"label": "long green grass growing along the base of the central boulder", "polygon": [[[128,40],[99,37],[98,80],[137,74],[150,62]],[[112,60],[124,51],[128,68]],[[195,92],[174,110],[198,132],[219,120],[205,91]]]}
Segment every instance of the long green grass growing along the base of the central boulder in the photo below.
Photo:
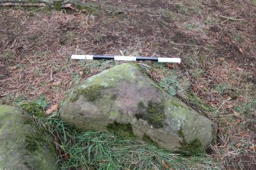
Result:
{"label": "long green grass growing along the base of the central boulder", "polygon": [[220,169],[204,156],[171,155],[144,142],[122,140],[106,132],[81,133],[57,115],[39,117],[37,123],[55,136],[60,169],[168,169],[167,165],[173,169]]}

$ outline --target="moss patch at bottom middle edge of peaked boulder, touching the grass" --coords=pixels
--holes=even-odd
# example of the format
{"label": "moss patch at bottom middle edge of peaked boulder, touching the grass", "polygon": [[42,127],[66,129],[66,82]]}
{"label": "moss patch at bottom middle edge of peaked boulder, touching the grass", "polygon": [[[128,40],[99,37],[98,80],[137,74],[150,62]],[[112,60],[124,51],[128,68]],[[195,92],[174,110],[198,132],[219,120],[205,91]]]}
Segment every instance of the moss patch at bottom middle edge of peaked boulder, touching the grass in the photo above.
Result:
{"label": "moss patch at bottom middle edge of peaked boulder, touching the grass", "polygon": [[107,130],[122,139],[133,140],[136,138],[132,131],[131,123],[111,123],[107,126]]}

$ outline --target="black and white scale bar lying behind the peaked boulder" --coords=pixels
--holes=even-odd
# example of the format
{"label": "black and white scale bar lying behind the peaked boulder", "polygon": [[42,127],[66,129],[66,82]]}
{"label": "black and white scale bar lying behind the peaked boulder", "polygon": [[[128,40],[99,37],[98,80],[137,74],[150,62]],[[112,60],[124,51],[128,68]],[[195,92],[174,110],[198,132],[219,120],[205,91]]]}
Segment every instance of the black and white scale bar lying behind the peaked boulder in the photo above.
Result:
{"label": "black and white scale bar lying behind the peaked boulder", "polygon": [[159,63],[180,63],[180,58],[147,57],[147,56],[100,56],[72,55],[71,59],[115,59],[116,61],[153,61]]}

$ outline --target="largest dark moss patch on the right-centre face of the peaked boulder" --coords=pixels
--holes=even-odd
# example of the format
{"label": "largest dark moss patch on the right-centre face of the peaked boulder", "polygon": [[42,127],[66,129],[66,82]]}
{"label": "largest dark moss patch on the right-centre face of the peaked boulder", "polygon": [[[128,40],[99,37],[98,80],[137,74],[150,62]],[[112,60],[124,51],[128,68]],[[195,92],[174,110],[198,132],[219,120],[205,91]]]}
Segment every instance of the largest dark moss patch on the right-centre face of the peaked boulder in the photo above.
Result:
{"label": "largest dark moss patch on the right-centre face of the peaked boulder", "polygon": [[[144,103],[140,102],[138,107],[141,113],[135,115],[138,119],[147,120],[155,128],[164,127],[164,104],[150,102],[147,107]],[[146,111],[144,111],[146,110]]]}

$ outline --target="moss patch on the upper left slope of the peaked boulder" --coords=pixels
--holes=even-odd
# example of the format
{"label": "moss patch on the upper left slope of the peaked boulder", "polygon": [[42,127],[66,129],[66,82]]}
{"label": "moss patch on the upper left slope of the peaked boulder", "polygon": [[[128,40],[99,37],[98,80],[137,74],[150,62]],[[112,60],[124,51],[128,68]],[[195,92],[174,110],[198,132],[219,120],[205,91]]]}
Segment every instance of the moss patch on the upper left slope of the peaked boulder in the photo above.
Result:
{"label": "moss patch on the upper left slope of the peaked boulder", "polygon": [[88,101],[96,101],[101,98],[100,90],[102,88],[104,88],[102,85],[90,85],[86,88],[79,88],[75,91],[75,97],[70,98],[70,101],[77,101],[80,95],[83,95]]}

